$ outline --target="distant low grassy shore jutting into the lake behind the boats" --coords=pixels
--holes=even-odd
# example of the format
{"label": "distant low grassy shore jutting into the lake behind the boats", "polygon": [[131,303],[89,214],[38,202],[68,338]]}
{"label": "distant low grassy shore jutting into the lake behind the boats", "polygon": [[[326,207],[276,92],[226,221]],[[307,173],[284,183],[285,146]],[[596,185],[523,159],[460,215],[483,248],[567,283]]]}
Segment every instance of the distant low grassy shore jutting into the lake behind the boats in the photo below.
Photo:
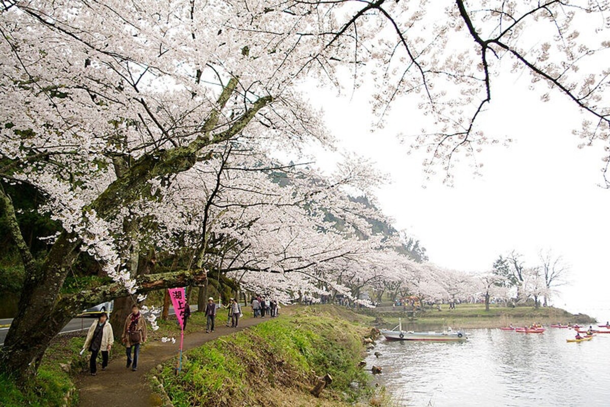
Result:
{"label": "distant low grassy shore jutting into the lake behind the boats", "polygon": [[[453,328],[500,328],[512,323],[514,326],[525,326],[533,322],[543,325],[551,323],[592,323],[595,319],[584,314],[571,314],[561,308],[554,307],[500,307],[491,306],[489,311],[485,311],[484,304],[459,304],[456,309],[449,309],[448,305],[442,305],[441,311],[430,309],[420,312],[415,318],[409,318],[406,312],[390,311],[377,312],[373,315],[378,317],[378,325],[397,325],[398,318],[403,320],[403,328],[422,327],[443,327],[452,326]],[[393,325],[392,325],[393,327]]]}

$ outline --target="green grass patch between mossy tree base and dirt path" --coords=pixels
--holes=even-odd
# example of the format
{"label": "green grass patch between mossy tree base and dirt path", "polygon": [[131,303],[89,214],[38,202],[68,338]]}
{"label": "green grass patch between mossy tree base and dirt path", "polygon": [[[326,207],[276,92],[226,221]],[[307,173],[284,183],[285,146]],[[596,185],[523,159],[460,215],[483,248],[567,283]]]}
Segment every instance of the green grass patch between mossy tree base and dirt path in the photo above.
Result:
{"label": "green grass patch between mossy tree base and dirt path", "polygon": [[83,340],[82,337],[58,337],[47,349],[38,375],[24,386],[17,386],[11,377],[0,375],[0,405],[62,406],[68,394],[73,395],[71,402],[76,403],[77,393],[71,375],[60,364],[71,363],[72,369],[86,365],[85,359],[79,356]]}

